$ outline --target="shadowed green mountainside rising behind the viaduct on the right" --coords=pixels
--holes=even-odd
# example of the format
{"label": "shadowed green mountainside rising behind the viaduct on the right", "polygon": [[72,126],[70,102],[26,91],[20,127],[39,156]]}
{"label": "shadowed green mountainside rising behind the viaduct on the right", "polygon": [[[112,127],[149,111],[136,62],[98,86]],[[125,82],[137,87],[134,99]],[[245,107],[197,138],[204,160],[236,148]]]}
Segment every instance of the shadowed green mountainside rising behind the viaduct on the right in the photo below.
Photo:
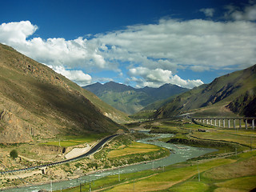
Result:
{"label": "shadowed green mountainside rising behind the viaduct on the right", "polygon": [[215,78],[174,98],[162,106],[155,118],[166,118],[187,112],[209,115],[256,116],[256,65]]}

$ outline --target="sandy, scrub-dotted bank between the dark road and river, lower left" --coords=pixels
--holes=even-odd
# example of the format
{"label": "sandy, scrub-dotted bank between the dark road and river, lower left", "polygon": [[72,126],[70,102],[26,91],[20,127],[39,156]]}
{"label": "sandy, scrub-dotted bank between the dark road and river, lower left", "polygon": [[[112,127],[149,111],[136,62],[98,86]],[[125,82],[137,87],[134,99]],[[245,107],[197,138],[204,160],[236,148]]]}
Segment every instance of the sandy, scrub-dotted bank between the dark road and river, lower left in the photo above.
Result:
{"label": "sandy, scrub-dotted bank between the dark road and river, lower left", "polygon": [[[110,141],[112,141],[112,139],[113,138],[111,138]],[[95,143],[93,146],[95,146]],[[113,168],[113,166],[110,166],[110,168],[104,169],[102,166],[102,169],[100,169],[101,167],[98,165],[100,165],[99,162],[101,161],[102,159],[95,159],[94,155],[90,155],[89,158],[83,158],[76,162],[68,162],[59,166],[47,167],[46,170],[44,170],[45,174],[40,174],[40,171],[38,170],[28,170],[26,173],[22,174],[4,174],[2,175],[2,186],[7,189],[11,186],[31,186],[30,182],[33,182],[34,185],[34,183],[47,184],[50,183],[50,180],[54,180],[54,182],[69,181],[85,174],[92,174],[98,170],[111,170]]]}

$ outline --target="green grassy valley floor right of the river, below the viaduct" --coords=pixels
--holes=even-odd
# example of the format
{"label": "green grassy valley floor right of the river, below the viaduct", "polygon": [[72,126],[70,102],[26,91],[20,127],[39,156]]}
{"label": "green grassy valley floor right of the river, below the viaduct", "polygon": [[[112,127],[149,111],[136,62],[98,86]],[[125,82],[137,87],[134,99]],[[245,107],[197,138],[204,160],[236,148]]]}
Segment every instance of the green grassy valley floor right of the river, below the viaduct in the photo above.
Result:
{"label": "green grassy valley floor right of the river, below the viaduct", "polygon": [[[181,119],[178,122],[172,119],[150,124],[154,130],[161,129],[161,132],[165,130],[176,133],[175,137],[162,138],[163,142],[210,147],[218,151],[170,166],[155,166],[153,170],[151,163],[150,170],[120,174],[120,176],[115,173],[112,176],[91,181],[91,185],[89,180],[84,179],[81,182],[82,186],[63,191],[80,191],[80,189],[86,191],[90,190],[90,187],[94,191],[250,191],[255,188],[256,134],[254,130],[234,131],[185,122]],[[146,124],[144,126],[148,127]],[[198,132],[198,128],[207,131]],[[219,137],[212,138],[213,134]],[[182,138],[186,142],[177,142],[176,138]],[[231,138],[232,142],[227,138]],[[249,138],[252,138],[251,146],[250,142],[245,143],[246,140],[250,140]]]}

